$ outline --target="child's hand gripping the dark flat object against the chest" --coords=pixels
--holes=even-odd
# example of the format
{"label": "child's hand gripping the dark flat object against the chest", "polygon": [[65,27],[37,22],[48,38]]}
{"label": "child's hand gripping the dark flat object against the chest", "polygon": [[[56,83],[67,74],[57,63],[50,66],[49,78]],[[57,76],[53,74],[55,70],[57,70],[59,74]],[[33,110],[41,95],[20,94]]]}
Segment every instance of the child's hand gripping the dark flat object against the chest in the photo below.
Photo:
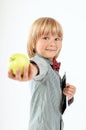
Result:
{"label": "child's hand gripping the dark flat object against the chest", "polygon": [[74,97],[75,92],[76,92],[76,87],[70,85],[69,83],[67,83],[66,87],[63,89],[63,94],[68,97],[68,100]]}

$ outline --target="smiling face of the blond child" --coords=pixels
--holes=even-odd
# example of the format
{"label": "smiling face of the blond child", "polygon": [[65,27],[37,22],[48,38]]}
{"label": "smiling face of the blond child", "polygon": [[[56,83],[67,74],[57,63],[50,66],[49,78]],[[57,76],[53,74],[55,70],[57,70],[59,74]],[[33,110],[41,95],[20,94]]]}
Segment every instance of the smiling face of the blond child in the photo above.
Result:
{"label": "smiling face of the blond child", "polygon": [[62,40],[57,35],[43,35],[36,43],[36,52],[50,60],[59,55],[61,48]]}

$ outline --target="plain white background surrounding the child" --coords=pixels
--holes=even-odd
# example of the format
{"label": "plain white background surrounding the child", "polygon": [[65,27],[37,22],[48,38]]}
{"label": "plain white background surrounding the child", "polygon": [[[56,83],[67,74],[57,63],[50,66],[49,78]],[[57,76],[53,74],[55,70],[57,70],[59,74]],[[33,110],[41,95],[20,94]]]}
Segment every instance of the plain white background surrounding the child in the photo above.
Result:
{"label": "plain white background surrounding the child", "polygon": [[[85,0],[0,0],[0,130],[28,130],[29,82],[8,79],[8,59],[27,55],[29,27],[38,17],[57,19],[64,30],[60,73],[77,87],[75,101],[64,113],[64,130],[86,130]],[[53,118],[53,117],[52,117]]]}

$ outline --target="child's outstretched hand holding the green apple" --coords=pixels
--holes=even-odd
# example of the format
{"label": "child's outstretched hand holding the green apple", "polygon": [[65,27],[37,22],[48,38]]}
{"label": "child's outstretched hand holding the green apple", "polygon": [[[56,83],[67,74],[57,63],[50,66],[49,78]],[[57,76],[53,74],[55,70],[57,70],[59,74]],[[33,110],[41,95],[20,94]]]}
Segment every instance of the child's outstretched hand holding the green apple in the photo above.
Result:
{"label": "child's outstretched hand holding the green apple", "polygon": [[8,77],[14,80],[19,80],[19,81],[28,81],[32,79],[38,72],[37,66],[30,64],[29,67],[25,66],[24,67],[24,74],[21,74],[20,69],[18,68],[16,70],[16,75],[12,73],[11,70],[8,71]]}

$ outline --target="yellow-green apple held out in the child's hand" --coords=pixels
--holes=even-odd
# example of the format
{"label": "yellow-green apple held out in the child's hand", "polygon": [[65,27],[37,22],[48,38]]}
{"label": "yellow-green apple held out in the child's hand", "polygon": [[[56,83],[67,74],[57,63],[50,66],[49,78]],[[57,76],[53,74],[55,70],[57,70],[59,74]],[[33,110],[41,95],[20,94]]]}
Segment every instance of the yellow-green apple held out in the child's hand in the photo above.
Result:
{"label": "yellow-green apple held out in the child's hand", "polygon": [[29,58],[21,53],[15,53],[9,58],[9,69],[13,71],[13,74],[16,74],[16,69],[19,68],[21,74],[24,73],[24,66],[29,67],[30,60]]}

